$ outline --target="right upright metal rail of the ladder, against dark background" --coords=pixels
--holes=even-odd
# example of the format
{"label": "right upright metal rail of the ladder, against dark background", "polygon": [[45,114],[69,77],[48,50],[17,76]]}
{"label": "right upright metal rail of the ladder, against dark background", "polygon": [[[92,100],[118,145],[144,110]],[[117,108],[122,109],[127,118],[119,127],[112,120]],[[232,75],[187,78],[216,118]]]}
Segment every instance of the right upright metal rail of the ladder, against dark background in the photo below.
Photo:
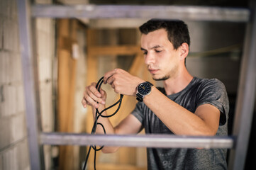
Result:
{"label": "right upright metal rail of the ladder, against dark background", "polygon": [[256,3],[251,1],[251,16],[247,23],[243,61],[240,72],[233,135],[237,137],[235,149],[230,152],[229,169],[244,169],[247,154],[256,84]]}

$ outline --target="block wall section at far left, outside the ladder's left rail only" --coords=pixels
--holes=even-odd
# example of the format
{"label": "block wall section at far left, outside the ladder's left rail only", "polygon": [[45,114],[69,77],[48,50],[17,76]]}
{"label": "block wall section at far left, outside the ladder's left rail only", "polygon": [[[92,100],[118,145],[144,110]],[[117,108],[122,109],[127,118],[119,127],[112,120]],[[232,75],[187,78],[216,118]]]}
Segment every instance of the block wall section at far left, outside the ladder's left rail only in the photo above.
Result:
{"label": "block wall section at far left, outside the ladder's left rail only", "polygon": [[30,169],[15,0],[0,0],[0,169]]}

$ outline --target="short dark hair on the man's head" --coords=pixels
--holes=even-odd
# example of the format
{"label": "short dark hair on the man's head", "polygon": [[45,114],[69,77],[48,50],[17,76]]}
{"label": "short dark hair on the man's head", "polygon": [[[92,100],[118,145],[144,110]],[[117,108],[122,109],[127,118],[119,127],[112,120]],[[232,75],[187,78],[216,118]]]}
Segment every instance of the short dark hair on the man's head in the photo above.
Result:
{"label": "short dark hair on the man's head", "polygon": [[168,39],[172,42],[174,50],[177,50],[184,42],[190,45],[189,29],[184,21],[150,19],[140,26],[140,33],[147,35],[148,33],[161,28],[167,30]]}

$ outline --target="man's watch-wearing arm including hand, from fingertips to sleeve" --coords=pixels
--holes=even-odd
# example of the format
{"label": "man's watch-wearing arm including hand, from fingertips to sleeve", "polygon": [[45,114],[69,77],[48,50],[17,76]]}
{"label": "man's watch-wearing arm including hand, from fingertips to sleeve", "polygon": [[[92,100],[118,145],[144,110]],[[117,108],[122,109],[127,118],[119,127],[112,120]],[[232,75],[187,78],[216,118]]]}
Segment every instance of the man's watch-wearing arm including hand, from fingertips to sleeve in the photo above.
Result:
{"label": "man's watch-wearing arm including hand, from fingertips to sleeve", "polygon": [[[104,83],[111,84],[118,94],[135,96],[136,87],[142,82],[142,79],[122,69],[114,69],[104,75]],[[154,86],[143,102],[176,135],[216,135],[221,113],[215,106],[204,104],[191,113]]]}

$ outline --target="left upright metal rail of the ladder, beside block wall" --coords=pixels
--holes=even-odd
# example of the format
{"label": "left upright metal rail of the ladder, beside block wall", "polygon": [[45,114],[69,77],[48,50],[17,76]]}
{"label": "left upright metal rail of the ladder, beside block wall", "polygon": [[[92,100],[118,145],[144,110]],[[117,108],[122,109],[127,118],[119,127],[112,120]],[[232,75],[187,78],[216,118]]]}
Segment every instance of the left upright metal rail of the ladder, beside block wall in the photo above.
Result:
{"label": "left upright metal rail of the ladder, beside block wall", "polygon": [[[17,0],[23,86],[26,99],[26,125],[30,169],[45,169],[43,145],[39,145],[40,100],[35,36],[35,19],[30,15],[28,0]],[[33,51],[34,50],[34,51]]]}

